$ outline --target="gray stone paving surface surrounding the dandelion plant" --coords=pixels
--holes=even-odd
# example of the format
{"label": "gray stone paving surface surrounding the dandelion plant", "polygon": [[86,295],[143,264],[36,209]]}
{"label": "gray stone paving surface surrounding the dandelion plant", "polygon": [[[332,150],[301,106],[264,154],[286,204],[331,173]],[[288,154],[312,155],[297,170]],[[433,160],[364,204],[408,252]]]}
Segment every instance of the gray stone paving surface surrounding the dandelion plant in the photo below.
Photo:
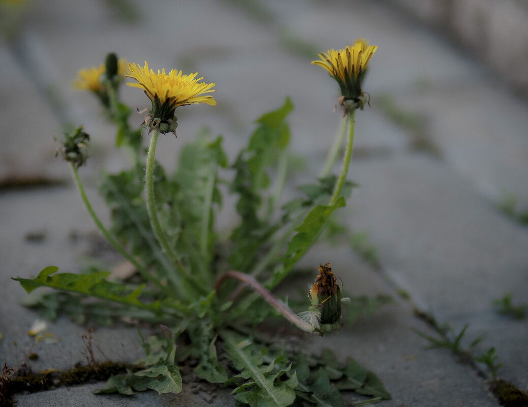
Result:
{"label": "gray stone paving surface surrounding the dandelion plant", "polygon": [[[168,167],[174,166],[181,144],[203,124],[224,135],[233,157],[247,139],[251,121],[290,95],[296,106],[290,121],[292,151],[310,163],[294,180],[305,180],[317,175],[340,118],[332,112],[336,84],[309,62],[317,52],[365,37],[379,45],[365,83],[372,108],[356,115],[350,178],[361,188],[340,219],[354,231],[370,231],[382,270],[362,263],[348,245],[316,246],[303,264],[332,261],[353,295],[391,294],[396,302],[324,340],[307,337],[307,343],[314,351],[333,347],[375,371],[393,395],[380,405],[498,405],[483,380],[448,351],[424,350],[428,343],[411,328],[432,331],[413,316],[414,304],[456,329],[469,323],[470,338],[486,335],[482,349],[495,346],[504,363],[499,375],[528,391],[528,322],[498,315],[492,305],[508,291],[516,301],[528,302],[528,229],[495,209],[504,192],[528,204],[525,100],[456,45],[380,3],[135,1],[130,4],[141,18],[134,24],[120,20],[109,4],[33,2],[19,24],[16,42],[0,44],[3,185],[20,183],[20,178],[67,180],[67,166],[53,157],[53,135],[60,134],[61,120],[80,123],[93,139],[92,158],[81,176],[96,211],[108,220],[95,189],[97,174],[101,166],[117,170],[127,160],[113,149],[112,131],[99,118],[95,100],[73,91],[71,80],[79,69],[99,64],[109,51],[129,61],[148,60],[155,69],[197,70],[205,81],[216,82],[218,106],[182,109],[177,141],[160,140],[158,156]],[[315,54],[293,47],[291,38],[304,41]],[[62,101],[58,110],[46,99],[46,89]],[[132,106],[148,104],[135,89],[124,89],[123,95]],[[383,98],[395,109],[388,110],[380,102]],[[414,127],[398,122],[406,114],[418,118]],[[140,115],[134,119],[137,124],[142,120]],[[436,157],[413,150],[410,140],[417,132],[436,146]],[[10,279],[34,276],[48,265],[74,272],[86,264],[97,240],[90,238],[95,227],[77,192],[70,184],[5,188],[0,190],[0,219],[0,360],[16,365],[35,352],[39,360],[29,362],[35,371],[67,369],[86,360],[82,335],[87,328],[65,318],[49,327],[59,343],[35,343],[27,335],[37,314],[20,305],[25,292]],[[70,238],[72,231],[82,236],[77,243]],[[43,241],[28,241],[25,236],[31,232],[43,233]],[[119,261],[111,255],[109,260]],[[409,293],[411,303],[398,299],[399,288]],[[94,338],[100,358],[132,361],[141,354],[133,328],[98,328]],[[18,395],[16,400],[21,406],[205,401],[201,394],[188,392],[182,397],[93,396],[96,386]],[[213,405],[234,401],[220,392]]]}

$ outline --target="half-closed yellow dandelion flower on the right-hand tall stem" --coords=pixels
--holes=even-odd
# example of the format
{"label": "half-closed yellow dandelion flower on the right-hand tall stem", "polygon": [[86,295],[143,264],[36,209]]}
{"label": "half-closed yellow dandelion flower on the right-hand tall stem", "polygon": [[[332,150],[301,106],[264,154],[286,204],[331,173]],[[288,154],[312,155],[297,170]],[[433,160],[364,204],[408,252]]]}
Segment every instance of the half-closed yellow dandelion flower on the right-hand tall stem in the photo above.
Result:
{"label": "half-closed yellow dandelion flower on the right-hand tall stem", "polygon": [[322,66],[337,81],[345,100],[357,102],[363,95],[361,85],[367,65],[377,49],[378,45],[357,40],[353,46],[347,46],[343,50],[332,49],[320,53],[320,61],[312,63]]}

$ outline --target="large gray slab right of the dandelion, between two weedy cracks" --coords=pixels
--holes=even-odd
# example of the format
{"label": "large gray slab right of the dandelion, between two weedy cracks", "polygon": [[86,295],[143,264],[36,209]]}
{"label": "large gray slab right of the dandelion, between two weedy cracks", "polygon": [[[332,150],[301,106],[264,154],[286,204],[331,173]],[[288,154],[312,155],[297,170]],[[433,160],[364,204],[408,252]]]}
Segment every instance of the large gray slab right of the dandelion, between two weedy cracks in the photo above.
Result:
{"label": "large gray slab right of the dandelion, between two weedy cracks", "polygon": [[358,160],[351,173],[362,187],[347,208],[350,223],[371,231],[389,278],[440,322],[457,330],[466,323],[478,326],[473,339],[487,326],[485,345],[497,348],[505,365],[501,374],[523,386],[528,323],[503,322],[508,329],[501,338],[492,303],[510,291],[521,302],[526,298],[526,229],[426,156]]}

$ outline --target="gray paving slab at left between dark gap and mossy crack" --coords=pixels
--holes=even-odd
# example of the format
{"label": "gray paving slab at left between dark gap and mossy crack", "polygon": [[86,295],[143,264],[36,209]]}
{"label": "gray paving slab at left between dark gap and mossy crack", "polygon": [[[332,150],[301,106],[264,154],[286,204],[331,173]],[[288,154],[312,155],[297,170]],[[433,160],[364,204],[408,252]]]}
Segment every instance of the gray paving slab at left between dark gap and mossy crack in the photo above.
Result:
{"label": "gray paving slab at left between dark gap and mossy crack", "polygon": [[[87,188],[87,194],[102,221],[108,224],[108,211],[96,191]],[[3,230],[0,234],[0,298],[3,301],[0,360],[17,366],[27,359],[29,353],[36,353],[38,360],[27,361],[36,372],[70,369],[77,362],[86,363],[83,355],[86,354],[86,343],[82,335],[88,335],[88,327],[60,318],[56,323],[48,323],[46,329],[59,342],[37,342],[27,332],[35,319],[42,318],[39,313],[21,305],[27,294],[20,284],[11,280],[11,277],[34,277],[47,266],[57,266],[60,272],[76,273],[82,263],[86,265],[82,258],[88,256],[94,244],[98,245],[100,238],[77,191],[61,187],[4,192],[0,196],[0,218]],[[79,237],[73,239],[73,233]],[[35,241],[29,238],[30,235],[41,239]],[[119,261],[114,254],[106,259]],[[114,335],[115,331],[108,328],[98,328],[93,334],[100,360],[130,361],[143,355],[136,328],[122,328],[119,340]]]}

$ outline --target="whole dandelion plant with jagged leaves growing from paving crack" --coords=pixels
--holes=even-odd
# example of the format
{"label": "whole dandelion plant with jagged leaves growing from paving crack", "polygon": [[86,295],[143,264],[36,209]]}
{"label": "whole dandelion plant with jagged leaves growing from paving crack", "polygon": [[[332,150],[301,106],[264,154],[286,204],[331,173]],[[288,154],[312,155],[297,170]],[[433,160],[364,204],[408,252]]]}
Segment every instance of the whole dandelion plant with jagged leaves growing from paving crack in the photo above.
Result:
{"label": "whole dandelion plant with jagged leaves growing from paving crack", "polygon": [[[344,159],[341,172],[333,175],[340,148],[331,148],[322,176],[301,186],[302,195],[286,203],[282,191],[290,167],[289,98],[256,121],[248,145],[232,162],[223,137],[213,138],[204,129],[181,149],[177,168],[167,172],[156,160],[158,142],[165,149],[182,142],[174,137],[176,110],[197,103],[215,106],[215,84],[202,82],[197,73],[156,73],[147,62],[128,64],[127,69],[115,54],[79,73],[77,86],[97,97],[117,129],[116,146],[130,159],[128,169],[102,176],[99,191],[111,211],[110,227],[93,209],[79,175],[88,159],[90,136],[82,127],[65,133],[58,152],[69,162],[81,200],[101,235],[134,267],[136,278],[110,280],[110,273],[98,267],[72,274],[49,266],[35,278],[15,280],[28,293],[40,287],[57,291],[33,301],[45,302],[51,317],[65,313],[80,323],[114,318],[162,328],[161,334],[142,338],[146,356],[134,369],[113,375],[97,393],[180,393],[185,367],[200,380],[234,387],[234,398],[251,406],[339,406],[340,391],[372,396],[369,402],[390,399],[380,379],[351,358],[343,364],[328,351],[320,357],[304,355],[299,346],[285,350],[276,338],[268,343],[252,333],[276,316],[300,332],[321,336],[342,326],[347,298],[338,270],[327,260],[310,286],[307,311],[296,314],[272,290],[316,243],[334,212],[346,205],[353,187],[347,174],[355,113],[369,103],[362,85],[377,48],[358,40],[314,61],[342,93],[337,103],[344,122],[336,144],[346,140]],[[150,106],[142,111],[143,130],[130,127],[132,109],[120,100],[125,77],[133,81],[127,85],[149,99]],[[215,229],[225,193],[236,200],[238,215],[227,242]],[[372,311],[386,301],[371,303],[360,297],[355,302]],[[96,366],[91,334],[83,340],[88,365]]]}

